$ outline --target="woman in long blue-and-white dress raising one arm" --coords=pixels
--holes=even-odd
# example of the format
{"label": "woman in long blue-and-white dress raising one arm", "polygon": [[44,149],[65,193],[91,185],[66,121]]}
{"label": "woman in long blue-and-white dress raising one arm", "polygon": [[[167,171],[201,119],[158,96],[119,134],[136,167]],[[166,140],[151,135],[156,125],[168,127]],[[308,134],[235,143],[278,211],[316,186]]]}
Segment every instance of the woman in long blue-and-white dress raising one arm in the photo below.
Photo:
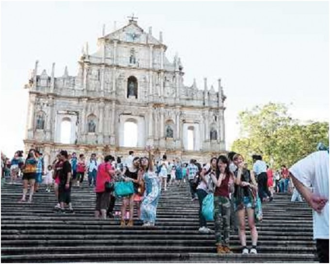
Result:
{"label": "woman in long blue-and-white dress raising one arm", "polygon": [[149,153],[148,158],[141,159],[141,170],[143,170],[143,180],[146,184],[146,196],[141,204],[141,220],[143,220],[143,226],[154,226],[161,185],[153,169],[151,149],[147,148],[147,151]]}

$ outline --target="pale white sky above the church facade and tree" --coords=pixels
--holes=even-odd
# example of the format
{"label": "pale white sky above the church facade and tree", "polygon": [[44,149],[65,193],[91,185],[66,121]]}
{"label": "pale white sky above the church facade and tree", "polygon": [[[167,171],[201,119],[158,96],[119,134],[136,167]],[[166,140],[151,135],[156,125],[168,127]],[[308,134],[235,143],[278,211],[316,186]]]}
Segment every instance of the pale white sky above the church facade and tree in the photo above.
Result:
{"label": "pale white sky above the church facade and tree", "polygon": [[29,70],[76,75],[82,46],[97,47],[106,33],[128,23],[158,38],[166,57],[181,57],[184,84],[194,78],[217,88],[225,101],[226,145],[239,137],[240,111],[269,101],[289,105],[294,118],[329,121],[328,1],[1,1],[1,150],[23,149]]}

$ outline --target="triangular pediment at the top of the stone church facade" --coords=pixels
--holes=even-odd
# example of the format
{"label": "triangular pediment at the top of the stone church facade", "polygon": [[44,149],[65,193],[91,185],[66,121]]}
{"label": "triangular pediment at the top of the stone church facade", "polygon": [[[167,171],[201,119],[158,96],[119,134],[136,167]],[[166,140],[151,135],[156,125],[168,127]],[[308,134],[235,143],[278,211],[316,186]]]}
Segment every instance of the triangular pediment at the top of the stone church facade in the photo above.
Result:
{"label": "triangular pediment at the top of the stone church facade", "polygon": [[144,30],[139,27],[135,22],[131,22],[125,27],[118,29],[113,33],[107,34],[105,38],[141,44],[162,44],[152,35],[145,33]]}

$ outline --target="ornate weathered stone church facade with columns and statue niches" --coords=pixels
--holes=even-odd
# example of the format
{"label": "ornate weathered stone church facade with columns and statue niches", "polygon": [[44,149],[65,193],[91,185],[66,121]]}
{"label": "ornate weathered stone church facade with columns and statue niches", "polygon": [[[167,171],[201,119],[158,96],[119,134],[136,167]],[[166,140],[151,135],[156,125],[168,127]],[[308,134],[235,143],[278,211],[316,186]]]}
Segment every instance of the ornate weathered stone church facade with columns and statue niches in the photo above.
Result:
{"label": "ornate weathered stone church facade with columns and statue niches", "polygon": [[[146,33],[134,19],[125,27],[98,39],[98,50],[89,54],[88,44],[78,61],[78,73],[67,68],[55,77],[46,70],[37,74],[38,61],[29,83],[25,148],[41,148],[46,164],[61,149],[99,159],[105,154],[126,156],[130,149],[143,155],[145,145],[156,155],[208,161],[225,151],[224,100],[220,80],[217,90],[183,84],[183,66],[176,55],[170,62],[163,44]],[[137,144],[124,147],[125,122],[137,126]],[[63,124],[68,141],[61,143]],[[188,149],[188,133],[193,149]]]}

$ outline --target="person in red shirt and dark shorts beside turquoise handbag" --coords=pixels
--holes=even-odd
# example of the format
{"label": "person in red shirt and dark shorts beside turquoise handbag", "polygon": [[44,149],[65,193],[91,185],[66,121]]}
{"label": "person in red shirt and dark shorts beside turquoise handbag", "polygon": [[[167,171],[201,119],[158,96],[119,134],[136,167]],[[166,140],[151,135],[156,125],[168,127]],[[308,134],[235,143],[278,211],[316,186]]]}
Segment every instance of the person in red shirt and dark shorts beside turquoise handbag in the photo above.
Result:
{"label": "person in red shirt and dark shorts beside turquoise handbag", "polygon": [[104,158],[104,162],[98,167],[98,172],[96,175],[96,207],[95,207],[95,218],[99,219],[101,214],[102,219],[106,219],[107,209],[110,203],[110,192],[105,191],[105,182],[111,181],[111,178],[115,174],[115,169],[112,167],[111,163],[115,158],[108,155]]}

